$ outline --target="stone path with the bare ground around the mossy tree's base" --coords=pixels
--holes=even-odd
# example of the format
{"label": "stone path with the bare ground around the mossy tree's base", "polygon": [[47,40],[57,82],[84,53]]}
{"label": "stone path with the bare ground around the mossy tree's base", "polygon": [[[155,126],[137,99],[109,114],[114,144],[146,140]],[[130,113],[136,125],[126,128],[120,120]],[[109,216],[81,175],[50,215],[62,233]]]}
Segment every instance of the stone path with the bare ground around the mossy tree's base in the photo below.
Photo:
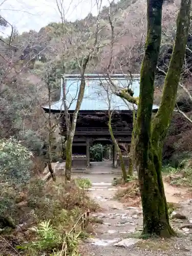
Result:
{"label": "stone path with the bare ground around the mossy tree's base", "polygon": [[[91,179],[92,188],[89,189],[90,194],[103,208],[102,212],[92,215],[92,217],[102,219],[103,224],[97,225],[91,237],[84,242],[83,256],[125,256],[127,254],[133,256],[168,256],[176,253],[179,253],[180,256],[192,255],[192,229],[189,226],[180,229],[182,225],[189,225],[189,220],[176,218],[175,222],[173,222],[175,229],[180,230],[181,238],[168,241],[138,239],[136,234],[139,234],[142,230],[141,207],[125,207],[122,203],[114,200],[117,188],[112,186],[113,176],[83,176]],[[165,185],[165,187],[167,189],[168,185]],[[168,191],[169,201],[173,199],[174,202],[176,202],[176,199],[177,202],[179,201],[176,191],[178,190],[175,190],[175,188],[173,188],[173,193]],[[179,190],[179,192],[181,193],[182,191]],[[180,199],[182,199],[181,195]],[[185,208],[185,214],[192,212],[192,201],[185,201],[181,205],[181,207]],[[186,207],[188,207],[187,210]],[[186,234],[187,237],[183,237]]]}

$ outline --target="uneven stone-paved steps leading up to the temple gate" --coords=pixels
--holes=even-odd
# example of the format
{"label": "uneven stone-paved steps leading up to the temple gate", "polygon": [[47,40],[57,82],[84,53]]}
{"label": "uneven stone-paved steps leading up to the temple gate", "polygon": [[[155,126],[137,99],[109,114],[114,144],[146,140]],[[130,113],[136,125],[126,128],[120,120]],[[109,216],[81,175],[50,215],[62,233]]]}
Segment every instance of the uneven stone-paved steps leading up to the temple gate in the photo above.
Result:
{"label": "uneven stone-paved steps leading up to the temple gate", "polygon": [[[100,176],[99,176],[100,177]],[[95,175],[95,179],[99,179]],[[104,179],[104,175],[101,175]],[[110,177],[111,178],[111,177]],[[109,179],[109,176],[108,176]],[[124,207],[114,199],[117,188],[112,182],[93,182],[89,188],[92,198],[102,207],[102,212],[92,214],[103,221],[97,226],[94,236],[86,241],[92,255],[125,255],[124,249],[139,242],[138,239],[129,238],[130,233],[138,230],[142,225],[142,210],[140,207]],[[97,181],[97,180],[96,180]]]}

